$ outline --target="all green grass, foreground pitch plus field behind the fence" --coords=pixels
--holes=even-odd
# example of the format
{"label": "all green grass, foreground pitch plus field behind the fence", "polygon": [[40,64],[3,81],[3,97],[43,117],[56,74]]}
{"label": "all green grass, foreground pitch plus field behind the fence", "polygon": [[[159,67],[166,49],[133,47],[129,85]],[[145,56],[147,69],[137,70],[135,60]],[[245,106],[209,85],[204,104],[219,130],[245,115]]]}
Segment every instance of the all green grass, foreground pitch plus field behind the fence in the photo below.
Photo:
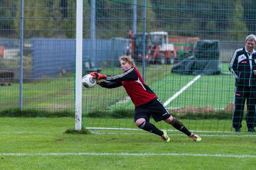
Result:
{"label": "all green grass, foreground pitch plus field behind the fence", "polygon": [[[223,64],[223,70],[227,66]],[[102,72],[118,74],[120,70]],[[163,102],[194,77],[196,75],[171,74],[170,65],[146,69],[146,84]],[[73,86],[73,75],[26,82],[23,84],[23,108],[74,111]],[[222,111],[233,101],[233,87],[233,77],[226,72],[203,76],[167,108],[210,105]],[[18,89],[16,83],[1,86],[1,109],[18,107]],[[122,101],[126,97],[122,88],[84,88],[83,114],[99,109],[105,113],[133,109],[131,101]],[[75,128],[75,118],[0,118],[0,169],[255,169],[256,134],[247,132],[245,120],[242,132],[235,133],[230,115],[223,115],[225,119],[192,116],[195,118],[186,117],[181,121],[189,130],[201,135],[201,142],[193,142],[164,122],[155,123],[158,128],[169,131],[171,142],[163,142],[160,137],[139,130],[133,119],[125,115],[115,119],[83,117],[82,125],[90,128],[90,135],[65,133]]]}

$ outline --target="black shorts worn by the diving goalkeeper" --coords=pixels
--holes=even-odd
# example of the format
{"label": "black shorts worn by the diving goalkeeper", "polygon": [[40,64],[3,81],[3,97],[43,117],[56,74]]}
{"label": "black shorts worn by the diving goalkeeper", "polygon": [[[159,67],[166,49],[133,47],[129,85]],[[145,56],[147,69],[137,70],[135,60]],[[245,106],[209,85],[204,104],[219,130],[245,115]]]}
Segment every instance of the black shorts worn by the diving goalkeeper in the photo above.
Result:
{"label": "black shorts worn by the diving goalkeeper", "polygon": [[159,122],[160,120],[166,120],[171,114],[164,108],[161,101],[156,98],[153,101],[149,101],[149,103],[135,108],[134,122],[139,118],[144,118],[149,122],[151,116],[156,122]]}

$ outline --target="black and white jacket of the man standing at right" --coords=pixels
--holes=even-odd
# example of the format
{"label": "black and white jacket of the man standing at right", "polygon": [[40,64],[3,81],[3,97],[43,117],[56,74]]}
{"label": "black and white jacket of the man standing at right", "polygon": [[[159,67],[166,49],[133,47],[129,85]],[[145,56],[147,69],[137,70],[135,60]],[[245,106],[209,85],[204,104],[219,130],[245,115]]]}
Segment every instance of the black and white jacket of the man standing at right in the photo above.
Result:
{"label": "black and white jacket of the man standing at right", "polygon": [[235,77],[235,86],[256,86],[256,51],[250,55],[245,47],[235,50],[229,70]]}

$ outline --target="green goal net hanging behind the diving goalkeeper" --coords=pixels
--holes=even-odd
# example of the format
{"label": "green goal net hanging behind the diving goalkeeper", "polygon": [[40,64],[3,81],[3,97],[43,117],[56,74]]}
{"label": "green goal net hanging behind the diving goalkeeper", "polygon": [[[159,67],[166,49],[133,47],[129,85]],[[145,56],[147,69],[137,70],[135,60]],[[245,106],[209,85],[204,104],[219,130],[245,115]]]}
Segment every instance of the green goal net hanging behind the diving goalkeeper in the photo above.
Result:
{"label": "green goal net hanging behind the diving goalkeeper", "polygon": [[[228,68],[235,50],[245,46],[254,30],[249,1],[78,2],[77,27],[82,20],[82,30],[77,28],[77,43],[82,47],[77,44],[77,50],[82,53],[77,51],[76,63],[82,73],[76,69],[75,97],[82,126],[138,129],[134,104],[123,87],[80,89],[79,80],[95,71],[121,74],[119,57],[132,55],[145,83],[189,129],[233,131],[235,78]],[[164,122],[156,125],[172,130]],[[242,130],[247,130],[245,118]]]}

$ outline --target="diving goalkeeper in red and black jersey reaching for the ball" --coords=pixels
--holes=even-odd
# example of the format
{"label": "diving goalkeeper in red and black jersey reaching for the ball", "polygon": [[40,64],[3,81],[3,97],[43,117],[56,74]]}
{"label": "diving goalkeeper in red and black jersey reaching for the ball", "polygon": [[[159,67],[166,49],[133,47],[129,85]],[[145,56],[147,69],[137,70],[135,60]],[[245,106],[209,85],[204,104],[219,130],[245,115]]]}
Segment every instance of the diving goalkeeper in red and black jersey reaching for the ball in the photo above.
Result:
{"label": "diving goalkeeper in red and black jersey reaching for the ball", "polygon": [[[152,116],[156,122],[164,120],[177,130],[188,135],[188,137],[191,137],[194,141],[201,141],[201,137],[190,132],[177,118],[170,115],[156,94],[151,91],[149,86],[144,84],[144,80],[139,74],[132,57],[122,56],[119,57],[119,61],[123,71],[122,74],[115,76],[102,75],[97,72],[91,72],[90,74],[98,80],[97,84],[107,89],[124,86],[124,89],[134,103],[134,122],[138,128],[159,135],[162,140],[169,142],[170,138],[166,130],[159,130],[149,122]],[[100,81],[102,79],[105,79],[105,81]]]}

